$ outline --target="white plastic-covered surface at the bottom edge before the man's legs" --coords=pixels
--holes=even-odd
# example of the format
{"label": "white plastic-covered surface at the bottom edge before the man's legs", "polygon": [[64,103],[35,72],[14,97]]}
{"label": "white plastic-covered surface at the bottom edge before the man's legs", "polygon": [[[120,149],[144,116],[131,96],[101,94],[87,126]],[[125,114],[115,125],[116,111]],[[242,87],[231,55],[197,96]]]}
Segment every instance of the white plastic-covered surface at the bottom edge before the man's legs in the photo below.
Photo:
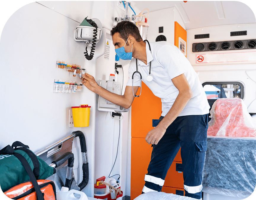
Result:
{"label": "white plastic-covered surface at the bottom edge before the man's legs", "polygon": [[136,197],[134,200],[198,200],[187,196],[169,194],[164,192],[147,192]]}

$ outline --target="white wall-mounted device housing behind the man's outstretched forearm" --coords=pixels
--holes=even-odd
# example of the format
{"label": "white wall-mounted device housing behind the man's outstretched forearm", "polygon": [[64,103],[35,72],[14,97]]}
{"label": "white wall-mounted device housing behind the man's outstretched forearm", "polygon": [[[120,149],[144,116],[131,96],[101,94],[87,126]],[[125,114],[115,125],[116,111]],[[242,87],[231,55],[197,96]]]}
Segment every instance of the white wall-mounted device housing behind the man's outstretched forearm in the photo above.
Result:
{"label": "white wall-mounted device housing behind the man's outstretched forearm", "polygon": [[[120,85],[116,81],[100,80],[99,85],[112,93],[119,94],[119,95],[121,94]],[[101,96],[99,96],[98,98],[98,110],[107,111],[107,112],[128,112],[129,111],[129,109],[125,109],[122,106],[113,104]]]}

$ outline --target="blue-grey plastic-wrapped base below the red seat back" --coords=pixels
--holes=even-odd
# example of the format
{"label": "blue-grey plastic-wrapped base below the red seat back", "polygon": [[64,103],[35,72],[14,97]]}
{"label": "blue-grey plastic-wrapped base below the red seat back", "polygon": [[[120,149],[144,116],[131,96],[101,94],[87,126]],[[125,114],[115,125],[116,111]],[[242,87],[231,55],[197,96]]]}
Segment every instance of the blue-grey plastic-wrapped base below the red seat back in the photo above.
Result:
{"label": "blue-grey plastic-wrapped base below the red seat back", "polygon": [[256,185],[256,138],[207,138],[203,192],[248,197]]}

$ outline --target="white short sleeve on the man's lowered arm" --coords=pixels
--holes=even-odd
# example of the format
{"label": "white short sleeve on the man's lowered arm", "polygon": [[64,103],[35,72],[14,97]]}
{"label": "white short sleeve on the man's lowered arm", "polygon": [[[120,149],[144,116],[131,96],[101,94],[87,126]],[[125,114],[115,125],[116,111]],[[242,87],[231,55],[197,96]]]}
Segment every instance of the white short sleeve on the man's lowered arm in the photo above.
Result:
{"label": "white short sleeve on the man's lowered arm", "polygon": [[170,79],[185,73],[181,60],[184,55],[176,46],[164,45],[159,49],[158,58],[161,65],[164,66]]}

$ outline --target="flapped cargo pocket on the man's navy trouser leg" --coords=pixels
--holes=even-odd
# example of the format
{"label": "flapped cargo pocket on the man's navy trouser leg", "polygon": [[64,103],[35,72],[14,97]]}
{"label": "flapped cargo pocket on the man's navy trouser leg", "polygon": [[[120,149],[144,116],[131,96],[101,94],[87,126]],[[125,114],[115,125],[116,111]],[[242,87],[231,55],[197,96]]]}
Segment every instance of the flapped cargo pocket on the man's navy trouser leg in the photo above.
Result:
{"label": "flapped cargo pocket on the man's navy trouser leg", "polygon": [[207,150],[206,142],[195,142],[193,173],[201,174],[204,167],[204,155]]}

